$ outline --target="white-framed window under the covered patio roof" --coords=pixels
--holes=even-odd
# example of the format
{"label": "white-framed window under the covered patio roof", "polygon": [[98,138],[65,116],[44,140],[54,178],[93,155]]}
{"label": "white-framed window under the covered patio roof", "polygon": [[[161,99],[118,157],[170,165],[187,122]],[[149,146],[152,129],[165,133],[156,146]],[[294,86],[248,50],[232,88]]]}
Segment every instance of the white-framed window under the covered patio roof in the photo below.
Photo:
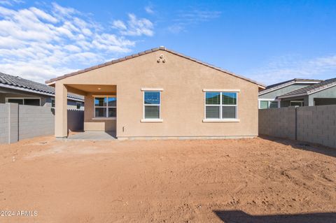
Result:
{"label": "white-framed window under the covered patio roof", "polygon": [[94,96],[94,117],[95,118],[116,118],[117,97],[116,96]]}

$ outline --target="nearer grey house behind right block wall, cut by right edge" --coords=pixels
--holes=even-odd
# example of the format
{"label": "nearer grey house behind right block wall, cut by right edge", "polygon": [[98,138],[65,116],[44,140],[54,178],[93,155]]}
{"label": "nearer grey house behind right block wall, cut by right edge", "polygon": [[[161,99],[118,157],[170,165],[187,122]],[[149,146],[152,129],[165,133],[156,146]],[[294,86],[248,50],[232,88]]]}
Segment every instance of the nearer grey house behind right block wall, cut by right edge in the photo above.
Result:
{"label": "nearer grey house behind right block wall, cut by right edge", "polygon": [[336,104],[336,78],[302,87],[277,97],[282,107]]}

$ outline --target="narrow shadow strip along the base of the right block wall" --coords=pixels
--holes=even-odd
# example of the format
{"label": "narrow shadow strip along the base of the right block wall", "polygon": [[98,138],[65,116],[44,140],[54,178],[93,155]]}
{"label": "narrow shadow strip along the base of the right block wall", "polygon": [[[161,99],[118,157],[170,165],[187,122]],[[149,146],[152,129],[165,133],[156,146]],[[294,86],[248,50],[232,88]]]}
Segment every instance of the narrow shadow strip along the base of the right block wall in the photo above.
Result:
{"label": "narrow shadow strip along the base of the right block wall", "polygon": [[310,152],[317,152],[321,154],[325,154],[330,157],[336,157],[336,148],[328,148],[323,145],[316,145],[314,143],[307,143],[301,141],[295,141],[285,138],[276,138],[272,136],[259,136],[259,138],[274,141],[276,143],[282,143],[283,145],[291,145],[293,148],[298,150],[306,150]]}

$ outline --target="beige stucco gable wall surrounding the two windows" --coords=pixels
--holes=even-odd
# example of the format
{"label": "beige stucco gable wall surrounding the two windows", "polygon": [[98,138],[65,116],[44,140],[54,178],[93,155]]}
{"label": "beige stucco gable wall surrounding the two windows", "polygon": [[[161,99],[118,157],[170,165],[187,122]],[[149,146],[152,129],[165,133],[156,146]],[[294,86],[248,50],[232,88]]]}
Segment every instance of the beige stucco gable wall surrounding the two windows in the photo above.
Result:
{"label": "beige stucco gable wall surrounding the two windows", "polygon": [[[165,63],[158,63],[160,55]],[[166,51],[152,52],[59,80],[65,85],[117,85],[117,137],[258,136],[258,86]],[[163,122],[144,123],[141,87],[162,87]],[[240,122],[202,122],[202,89],[240,89]],[[57,90],[57,89],[56,89]],[[85,114],[93,103],[85,103]],[[61,116],[60,116],[61,117]],[[87,117],[85,115],[85,123]],[[62,120],[59,120],[62,122]],[[86,130],[87,126],[85,126]]]}

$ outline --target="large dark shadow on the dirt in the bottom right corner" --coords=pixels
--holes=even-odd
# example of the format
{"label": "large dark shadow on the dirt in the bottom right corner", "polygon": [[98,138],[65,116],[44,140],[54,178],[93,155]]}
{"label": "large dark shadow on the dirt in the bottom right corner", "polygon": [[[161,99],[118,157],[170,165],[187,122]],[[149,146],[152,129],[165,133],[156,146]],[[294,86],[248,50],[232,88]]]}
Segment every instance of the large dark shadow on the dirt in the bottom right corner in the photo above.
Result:
{"label": "large dark shadow on the dirt in the bottom right corner", "polygon": [[225,223],[334,223],[336,213],[298,213],[293,215],[248,215],[241,210],[214,210]]}

